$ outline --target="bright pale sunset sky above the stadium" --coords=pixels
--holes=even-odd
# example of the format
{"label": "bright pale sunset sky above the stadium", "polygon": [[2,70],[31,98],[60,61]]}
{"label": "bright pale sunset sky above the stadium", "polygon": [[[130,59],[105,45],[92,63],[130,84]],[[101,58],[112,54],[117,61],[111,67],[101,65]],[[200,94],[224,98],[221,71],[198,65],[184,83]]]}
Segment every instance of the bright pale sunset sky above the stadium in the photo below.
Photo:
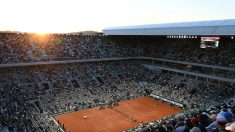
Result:
{"label": "bright pale sunset sky above the stadium", "polygon": [[0,31],[101,31],[123,25],[235,19],[235,0],[0,0]]}

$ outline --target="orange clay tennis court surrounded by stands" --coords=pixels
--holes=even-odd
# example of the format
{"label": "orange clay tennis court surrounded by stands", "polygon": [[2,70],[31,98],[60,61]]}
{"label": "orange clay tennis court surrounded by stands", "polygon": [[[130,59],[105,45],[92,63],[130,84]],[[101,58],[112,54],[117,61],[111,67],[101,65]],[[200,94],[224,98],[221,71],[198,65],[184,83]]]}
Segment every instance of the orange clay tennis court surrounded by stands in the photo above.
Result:
{"label": "orange clay tennis court surrounded by stands", "polygon": [[[67,132],[120,132],[139,125],[140,121],[150,122],[181,111],[151,97],[140,97],[119,102],[119,106],[113,109],[92,108],[54,118],[64,124]],[[84,119],[84,116],[87,118]],[[130,117],[137,121],[133,122]]]}

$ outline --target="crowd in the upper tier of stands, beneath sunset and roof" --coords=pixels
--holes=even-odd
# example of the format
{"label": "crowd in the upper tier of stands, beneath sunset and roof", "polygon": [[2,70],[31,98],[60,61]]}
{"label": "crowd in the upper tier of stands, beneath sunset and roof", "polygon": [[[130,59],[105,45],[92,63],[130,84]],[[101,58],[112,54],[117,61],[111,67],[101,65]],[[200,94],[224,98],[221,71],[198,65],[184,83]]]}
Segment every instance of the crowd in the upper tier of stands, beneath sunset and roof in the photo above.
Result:
{"label": "crowd in the upper tier of stands, beneath sunset and roof", "polygon": [[220,41],[216,49],[201,49],[199,38],[2,33],[0,63],[144,56],[234,68],[234,40]]}

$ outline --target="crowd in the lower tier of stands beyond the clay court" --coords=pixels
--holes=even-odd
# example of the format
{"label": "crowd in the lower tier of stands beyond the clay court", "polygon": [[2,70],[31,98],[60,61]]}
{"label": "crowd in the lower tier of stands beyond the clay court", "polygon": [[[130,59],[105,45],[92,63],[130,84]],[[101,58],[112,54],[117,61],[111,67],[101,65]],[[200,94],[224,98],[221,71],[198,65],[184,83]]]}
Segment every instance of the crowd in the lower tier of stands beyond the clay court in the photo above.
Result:
{"label": "crowd in the lower tier of stands beyond the clay court", "polygon": [[[57,131],[60,128],[52,115],[107,106],[147,95],[147,91],[181,101],[188,107],[193,101],[201,104],[210,99],[216,91],[196,80],[148,70],[143,63],[93,62],[1,70],[0,130]],[[194,89],[197,85],[204,90]],[[233,87],[231,91],[234,92]],[[221,94],[218,98],[226,97]]]}

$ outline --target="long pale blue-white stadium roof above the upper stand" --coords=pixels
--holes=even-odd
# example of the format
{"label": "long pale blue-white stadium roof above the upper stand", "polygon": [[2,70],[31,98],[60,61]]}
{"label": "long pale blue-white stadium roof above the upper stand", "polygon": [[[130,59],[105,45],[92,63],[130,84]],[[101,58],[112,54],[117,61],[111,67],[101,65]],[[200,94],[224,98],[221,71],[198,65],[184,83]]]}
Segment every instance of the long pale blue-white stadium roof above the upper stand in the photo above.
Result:
{"label": "long pale blue-white stadium roof above the upper stand", "polygon": [[111,27],[103,32],[105,35],[235,35],[235,19]]}

